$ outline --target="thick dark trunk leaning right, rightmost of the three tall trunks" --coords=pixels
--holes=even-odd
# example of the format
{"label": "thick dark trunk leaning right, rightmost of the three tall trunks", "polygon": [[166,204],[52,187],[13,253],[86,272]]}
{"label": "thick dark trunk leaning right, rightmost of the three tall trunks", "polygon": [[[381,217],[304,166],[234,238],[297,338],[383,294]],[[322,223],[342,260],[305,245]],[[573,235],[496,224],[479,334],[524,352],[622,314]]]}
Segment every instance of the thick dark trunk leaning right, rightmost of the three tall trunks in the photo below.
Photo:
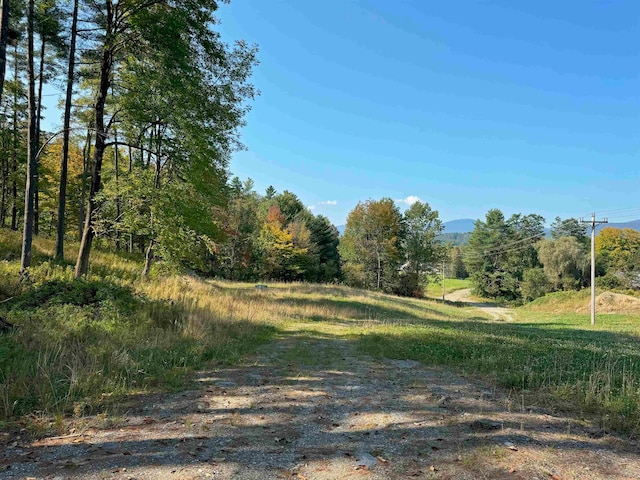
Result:
{"label": "thick dark trunk leaning right, rightmost of the three tall trunks", "polygon": [[[33,1],[33,0],[30,0]],[[93,214],[96,210],[96,194],[101,187],[102,158],[106,148],[107,130],[104,124],[104,106],[111,87],[111,70],[113,66],[113,3],[112,0],[106,2],[107,14],[105,20],[105,39],[102,51],[102,59],[100,61],[100,86],[98,88],[98,96],[95,106],[95,122],[96,122],[96,147],[93,157],[93,171],[91,173],[91,189],[89,191],[89,204],[87,206],[87,214],[84,221],[84,230],[82,232],[82,241],[80,242],[80,251],[78,252],[78,260],[76,261],[75,278],[86,275],[89,270],[89,255],[91,253],[91,244],[95,231],[93,229]]]}

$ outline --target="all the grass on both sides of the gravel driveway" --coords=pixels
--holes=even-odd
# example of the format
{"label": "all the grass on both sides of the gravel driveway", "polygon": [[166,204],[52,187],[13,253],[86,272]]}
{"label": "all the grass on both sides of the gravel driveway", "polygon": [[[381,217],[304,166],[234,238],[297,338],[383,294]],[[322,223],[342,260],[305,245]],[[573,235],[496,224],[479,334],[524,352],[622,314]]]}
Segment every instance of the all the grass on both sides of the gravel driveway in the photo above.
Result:
{"label": "all the grass on both sides of the gravel driveway", "polygon": [[[524,307],[496,322],[472,307],[343,286],[232,283],[161,275],[139,281],[141,259],[97,253],[92,275],[36,242],[18,283],[19,238],[0,241],[0,418],[110,412],[130,394],[185,388],[192,372],[241,362],[280,335],[354,342],[374,358],[450,368],[528,405],[582,413],[640,435],[640,316]],[[70,256],[73,256],[73,251]],[[549,302],[553,304],[553,302]],[[268,346],[266,347],[268,348]],[[301,346],[301,348],[304,348]],[[313,360],[313,355],[309,356]],[[318,368],[322,368],[319,365]],[[514,407],[515,408],[515,407]]]}

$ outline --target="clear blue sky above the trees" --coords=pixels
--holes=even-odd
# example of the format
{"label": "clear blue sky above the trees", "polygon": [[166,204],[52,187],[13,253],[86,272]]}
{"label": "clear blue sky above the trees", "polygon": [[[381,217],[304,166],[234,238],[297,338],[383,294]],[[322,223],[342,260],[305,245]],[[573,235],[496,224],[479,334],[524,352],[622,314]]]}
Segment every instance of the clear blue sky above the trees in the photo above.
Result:
{"label": "clear blue sky above the trees", "polygon": [[640,2],[233,0],[219,18],[260,48],[231,164],[259,190],[336,224],[383,196],[444,220],[640,207]]}

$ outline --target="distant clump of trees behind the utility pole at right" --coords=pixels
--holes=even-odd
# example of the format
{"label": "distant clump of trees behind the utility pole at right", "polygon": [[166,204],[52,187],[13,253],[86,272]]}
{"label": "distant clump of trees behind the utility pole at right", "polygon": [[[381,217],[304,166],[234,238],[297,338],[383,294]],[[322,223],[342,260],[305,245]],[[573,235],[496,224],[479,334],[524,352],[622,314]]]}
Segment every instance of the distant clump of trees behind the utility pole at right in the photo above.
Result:
{"label": "distant clump of trees behind the utility pole at right", "polygon": [[[547,293],[579,290],[590,282],[587,226],[556,217],[546,238],[537,214],[506,218],[497,209],[478,220],[452,264],[488,298],[529,301]],[[604,228],[596,237],[596,282],[607,288],[640,288],[640,232]]]}

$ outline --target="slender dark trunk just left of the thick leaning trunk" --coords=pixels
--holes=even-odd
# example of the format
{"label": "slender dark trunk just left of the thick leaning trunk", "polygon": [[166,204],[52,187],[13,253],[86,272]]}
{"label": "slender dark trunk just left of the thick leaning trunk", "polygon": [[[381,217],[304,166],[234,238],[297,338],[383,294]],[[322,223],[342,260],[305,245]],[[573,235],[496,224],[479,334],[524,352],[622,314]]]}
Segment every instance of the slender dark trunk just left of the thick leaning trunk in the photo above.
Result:
{"label": "slender dark trunk just left of the thick leaning trunk", "polygon": [[67,204],[67,176],[69,164],[69,136],[71,131],[71,98],[73,96],[73,76],[76,66],[76,31],[78,30],[78,0],[73,2],[71,40],[69,43],[69,64],[67,67],[67,96],[64,101],[64,132],[62,134],[62,159],[60,160],[60,189],[58,191],[58,224],[56,226],[56,258],[64,259],[65,210]]}

